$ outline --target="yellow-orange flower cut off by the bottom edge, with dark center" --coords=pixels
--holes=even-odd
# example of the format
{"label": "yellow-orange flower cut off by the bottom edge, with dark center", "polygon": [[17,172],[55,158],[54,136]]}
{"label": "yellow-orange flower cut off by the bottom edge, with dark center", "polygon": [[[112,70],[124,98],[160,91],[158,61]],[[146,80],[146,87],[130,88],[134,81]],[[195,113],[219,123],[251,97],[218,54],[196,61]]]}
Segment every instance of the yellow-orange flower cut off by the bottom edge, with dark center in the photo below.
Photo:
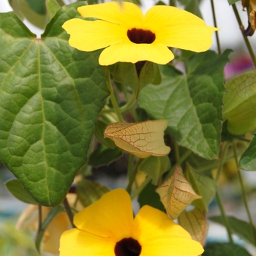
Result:
{"label": "yellow-orange flower cut off by the bottom edge, with dark center", "polygon": [[75,215],[60,256],[196,256],[203,247],[162,211],[143,206],[133,219],[129,194],[114,189]]}

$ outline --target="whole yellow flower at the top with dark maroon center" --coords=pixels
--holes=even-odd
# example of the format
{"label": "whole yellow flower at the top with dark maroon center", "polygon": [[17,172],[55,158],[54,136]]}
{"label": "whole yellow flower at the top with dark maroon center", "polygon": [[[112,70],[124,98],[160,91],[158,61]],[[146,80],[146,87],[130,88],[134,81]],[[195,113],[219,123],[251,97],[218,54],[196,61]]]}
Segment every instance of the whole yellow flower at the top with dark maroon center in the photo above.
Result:
{"label": "whole yellow flower at the top with dark maroon center", "polygon": [[118,61],[167,64],[174,59],[168,47],[206,51],[218,30],[192,13],[163,5],[145,15],[138,5],[125,1],[87,5],[78,12],[96,20],[67,20],[62,27],[70,34],[69,45],[83,51],[105,48],[99,56],[101,65]]}

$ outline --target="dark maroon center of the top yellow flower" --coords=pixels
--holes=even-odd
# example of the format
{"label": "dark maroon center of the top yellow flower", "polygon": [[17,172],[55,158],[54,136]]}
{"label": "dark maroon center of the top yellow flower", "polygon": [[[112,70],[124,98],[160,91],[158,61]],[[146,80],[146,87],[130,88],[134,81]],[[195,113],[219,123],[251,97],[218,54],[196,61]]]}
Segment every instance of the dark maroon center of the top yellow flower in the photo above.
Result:
{"label": "dark maroon center of the top yellow flower", "polygon": [[156,39],[156,35],[153,32],[143,29],[128,30],[127,37],[135,44],[151,44]]}

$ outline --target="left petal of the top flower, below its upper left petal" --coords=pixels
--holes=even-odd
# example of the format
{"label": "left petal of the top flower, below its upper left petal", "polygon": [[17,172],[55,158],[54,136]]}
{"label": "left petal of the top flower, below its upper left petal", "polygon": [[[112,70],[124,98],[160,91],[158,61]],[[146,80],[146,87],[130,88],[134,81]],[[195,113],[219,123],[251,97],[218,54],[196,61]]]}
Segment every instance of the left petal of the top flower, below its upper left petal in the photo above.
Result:
{"label": "left petal of the top flower, below its upper left petal", "polygon": [[62,28],[70,34],[69,45],[78,50],[97,50],[127,39],[127,29],[102,20],[74,18],[67,20]]}

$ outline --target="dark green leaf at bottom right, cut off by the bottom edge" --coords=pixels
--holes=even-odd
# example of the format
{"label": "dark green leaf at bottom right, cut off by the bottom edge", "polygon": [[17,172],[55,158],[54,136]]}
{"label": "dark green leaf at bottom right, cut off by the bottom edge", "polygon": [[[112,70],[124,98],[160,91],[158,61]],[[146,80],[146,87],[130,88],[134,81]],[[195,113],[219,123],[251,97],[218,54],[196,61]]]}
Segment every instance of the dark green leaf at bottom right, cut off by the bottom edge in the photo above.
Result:
{"label": "dark green leaf at bottom right, cut off by the bottom edge", "polygon": [[230,243],[208,243],[204,249],[203,256],[251,256],[246,249]]}

